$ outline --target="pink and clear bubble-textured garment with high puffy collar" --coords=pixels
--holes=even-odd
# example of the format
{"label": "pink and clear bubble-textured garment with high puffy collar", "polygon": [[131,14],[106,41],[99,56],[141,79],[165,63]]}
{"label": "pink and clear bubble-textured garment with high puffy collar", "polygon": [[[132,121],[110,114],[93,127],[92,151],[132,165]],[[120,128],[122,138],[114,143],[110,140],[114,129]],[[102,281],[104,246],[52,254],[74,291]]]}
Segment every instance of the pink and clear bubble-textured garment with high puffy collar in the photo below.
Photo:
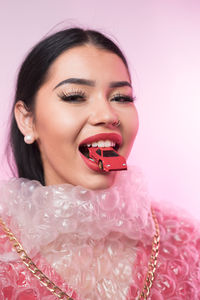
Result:
{"label": "pink and clear bubble-textured garment with high puffy collar", "polygon": [[[141,171],[118,172],[107,190],[1,184],[0,215],[49,279],[76,300],[137,299],[154,223]],[[161,243],[148,299],[200,299],[200,232],[180,211],[153,204]],[[195,227],[196,226],[196,227]],[[55,300],[26,269],[0,229],[0,299]]]}

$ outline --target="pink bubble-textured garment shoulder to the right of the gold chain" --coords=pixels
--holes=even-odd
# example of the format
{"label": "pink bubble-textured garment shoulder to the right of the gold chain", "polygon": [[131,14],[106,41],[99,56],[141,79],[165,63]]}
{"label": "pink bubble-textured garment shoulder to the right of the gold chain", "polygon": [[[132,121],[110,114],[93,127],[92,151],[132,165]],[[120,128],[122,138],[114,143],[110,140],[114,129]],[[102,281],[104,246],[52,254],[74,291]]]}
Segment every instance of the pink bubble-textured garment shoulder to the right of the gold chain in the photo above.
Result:
{"label": "pink bubble-textured garment shoulder to the right of the gold chain", "polygon": [[155,285],[164,299],[200,299],[198,223],[178,209],[158,205],[154,209],[160,228]]}

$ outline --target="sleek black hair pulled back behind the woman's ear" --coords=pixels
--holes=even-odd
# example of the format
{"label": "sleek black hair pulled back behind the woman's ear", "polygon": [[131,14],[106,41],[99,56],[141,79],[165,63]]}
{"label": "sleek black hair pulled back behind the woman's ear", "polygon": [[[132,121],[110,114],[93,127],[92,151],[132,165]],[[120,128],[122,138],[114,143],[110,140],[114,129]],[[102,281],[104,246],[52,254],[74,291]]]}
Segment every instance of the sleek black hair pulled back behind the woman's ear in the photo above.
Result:
{"label": "sleek black hair pulled back behind the woman's ear", "polygon": [[104,34],[95,30],[84,30],[74,27],[54,33],[40,41],[23,61],[19,70],[14,103],[12,107],[9,146],[14,157],[17,175],[31,180],[44,182],[44,171],[37,142],[26,144],[24,136],[19,130],[15,116],[15,104],[22,100],[28,111],[34,110],[35,95],[45,82],[49,67],[64,51],[92,44],[118,55],[124,62],[128,73],[128,64],[119,47]]}

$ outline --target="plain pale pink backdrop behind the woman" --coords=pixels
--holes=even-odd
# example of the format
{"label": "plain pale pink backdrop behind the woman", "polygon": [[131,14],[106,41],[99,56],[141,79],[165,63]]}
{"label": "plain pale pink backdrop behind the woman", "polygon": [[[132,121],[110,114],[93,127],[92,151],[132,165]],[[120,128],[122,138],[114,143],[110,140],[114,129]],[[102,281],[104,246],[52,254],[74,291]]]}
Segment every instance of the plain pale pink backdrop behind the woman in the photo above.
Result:
{"label": "plain pale pink backdrop behind the woman", "polygon": [[140,117],[129,162],[141,167],[156,200],[200,218],[200,1],[1,0],[1,153],[18,66],[56,24],[92,27],[119,42]]}

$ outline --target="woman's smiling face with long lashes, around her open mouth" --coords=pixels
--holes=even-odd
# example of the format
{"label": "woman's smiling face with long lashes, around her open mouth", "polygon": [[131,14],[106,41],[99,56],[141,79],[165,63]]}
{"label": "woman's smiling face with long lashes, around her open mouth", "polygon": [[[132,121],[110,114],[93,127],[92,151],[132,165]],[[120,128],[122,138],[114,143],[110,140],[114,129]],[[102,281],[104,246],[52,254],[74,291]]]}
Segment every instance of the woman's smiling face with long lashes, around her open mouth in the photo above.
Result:
{"label": "woman's smiling face with long lashes, around her open mouth", "polygon": [[130,85],[123,61],[92,45],[67,50],[54,61],[36,95],[34,115],[46,185],[112,185],[116,171],[102,172],[95,163],[86,163],[79,147],[90,137],[90,143],[116,142],[117,134],[122,138],[118,153],[128,157],[138,130]]}

